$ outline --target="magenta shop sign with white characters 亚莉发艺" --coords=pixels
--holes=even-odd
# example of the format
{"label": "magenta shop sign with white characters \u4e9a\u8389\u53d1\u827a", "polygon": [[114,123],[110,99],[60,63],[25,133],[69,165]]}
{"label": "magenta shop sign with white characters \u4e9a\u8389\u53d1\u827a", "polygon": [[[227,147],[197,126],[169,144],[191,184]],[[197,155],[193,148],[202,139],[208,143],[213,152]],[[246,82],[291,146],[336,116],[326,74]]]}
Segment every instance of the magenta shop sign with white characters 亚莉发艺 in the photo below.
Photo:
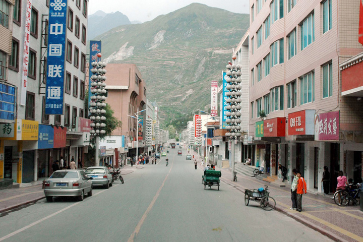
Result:
{"label": "magenta shop sign with white characters \u4e9a\u8389\u53d1\u827a", "polygon": [[315,140],[339,140],[339,111],[315,114]]}

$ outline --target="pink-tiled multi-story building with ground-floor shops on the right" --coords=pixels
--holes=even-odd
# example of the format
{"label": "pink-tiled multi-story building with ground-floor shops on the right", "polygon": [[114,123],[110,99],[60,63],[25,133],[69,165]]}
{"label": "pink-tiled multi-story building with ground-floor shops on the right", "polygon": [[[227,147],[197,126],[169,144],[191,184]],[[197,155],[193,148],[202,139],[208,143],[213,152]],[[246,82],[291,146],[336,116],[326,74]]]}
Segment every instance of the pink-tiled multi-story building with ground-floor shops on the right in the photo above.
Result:
{"label": "pink-tiled multi-story building with ground-floor shops on the right", "polygon": [[265,160],[271,176],[281,163],[289,181],[297,168],[319,191],[327,166],[333,191],[339,170],[361,171],[362,105],[342,96],[339,68],[362,51],[359,1],[250,0],[250,8],[253,162]]}

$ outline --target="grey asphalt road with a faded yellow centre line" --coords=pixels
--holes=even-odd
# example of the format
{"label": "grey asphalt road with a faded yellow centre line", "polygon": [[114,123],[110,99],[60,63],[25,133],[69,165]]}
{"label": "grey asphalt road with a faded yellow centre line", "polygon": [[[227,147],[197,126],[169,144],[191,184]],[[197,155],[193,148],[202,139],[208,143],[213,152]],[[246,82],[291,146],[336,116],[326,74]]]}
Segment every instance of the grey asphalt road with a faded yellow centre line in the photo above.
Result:
{"label": "grey asphalt road with a faded yellow centre line", "polygon": [[0,217],[0,241],[331,241],[221,183],[204,190],[202,171],[186,151],[170,149],[157,165],[94,189],[82,202],[45,199]]}

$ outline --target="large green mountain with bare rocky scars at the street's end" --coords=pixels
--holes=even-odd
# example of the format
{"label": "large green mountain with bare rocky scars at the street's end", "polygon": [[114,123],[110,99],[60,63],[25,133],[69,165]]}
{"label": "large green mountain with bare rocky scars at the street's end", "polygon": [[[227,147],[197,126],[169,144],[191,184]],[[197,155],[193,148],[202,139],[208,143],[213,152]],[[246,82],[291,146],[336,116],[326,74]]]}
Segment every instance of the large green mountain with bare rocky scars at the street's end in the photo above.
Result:
{"label": "large green mountain with bare rocky scars at the street's end", "polygon": [[106,62],[137,65],[148,99],[161,104],[162,124],[180,125],[196,108],[210,108],[211,81],[221,84],[232,47],[248,27],[249,15],[191,4],[97,38]]}

